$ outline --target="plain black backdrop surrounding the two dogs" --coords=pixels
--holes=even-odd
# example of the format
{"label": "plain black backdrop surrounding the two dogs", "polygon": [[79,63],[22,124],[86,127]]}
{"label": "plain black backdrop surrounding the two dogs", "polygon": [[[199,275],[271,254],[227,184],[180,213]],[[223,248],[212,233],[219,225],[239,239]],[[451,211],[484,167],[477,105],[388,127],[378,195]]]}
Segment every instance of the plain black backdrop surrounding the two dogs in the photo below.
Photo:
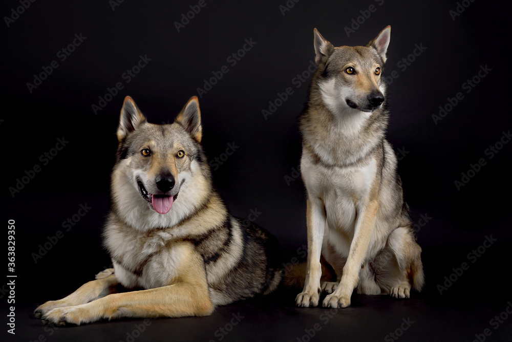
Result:
{"label": "plain black backdrop surrounding the two dogs", "polygon": [[[201,95],[209,160],[223,158],[228,143],[239,146],[213,170],[216,188],[234,215],[248,218],[250,210],[259,212],[255,222],[278,237],[287,251],[285,263],[304,261],[297,249],[306,243],[305,190],[294,176],[301,154],[297,117],[310,78],[299,87],[294,78],[308,75],[314,27],[340,46],[366,45],[387,25],[392,30],[383,75],[399,75],[388,87],[387,138],[395,149],[406,151],[399,154],[399,173],[423,247],[424,291],[414,292],[408,301],[354,295],[352,307],[326,323],[326,310],[293,306],[300,290],[282,290],[263,300],[218,308],[206,318],[152,320],[136,340],[307,340],[304,334],[315,323],[322,329],[313,339],[382,340],[408,317],[415,323],[400,340],[473,340],[486,328],[492,332],[486,340],[512,339],[512,318],[497,329],[489,322],[512,300],[512,146],[502,145],[493,158],[485,152],[511,128],[509,5],[466,0],[467,8],[453,18],[455,1],[290,0],[294,6],[283,14],[285,0],[206,0],[178,32],[175,22],[197,1],[124,1],[114,8],[111,3],[36,1],[9,27],[5,18],[0,24],[2,220],[16,222],[17,329],[10,340],[40,335],[48,340],[126,340],[126,333],[142,322],[53,331],[29,316],[37,305],[67,295],[110,266],[100,233],[109,209],[115,132],[126,95],[154,123],[172,122],[191,96]],[[365,12],[370,5],[376,10]],[[4,2],[0,14],[12,16],[19,6]],[[362,22],[365,13],[370,16]],[[358,17],[362,24],[347,35],[345,27]],[[87,38],[62,61],[57,53],[75,34]],[[255,45],[232,66],[227,57],[242,49],[245,39]],[[397,63],[415,45],[426,49],[404,70]],[[137,65],[139,56],[151,60],[127,83],[122,74]],[[27,83],[34,83],[34,75],[53,60],[58,68],[29,91]],[[205,79],[223,66],[229,71],[206,94],[198,94]],[[478,75],[481,66],[490,71],[466,93],[463,83]],[[124,88],[95,114],[92,105],[117,82]],[[262,110],[269,110],[269,101],[288,87],[293,94],[265,118]],[[458,92],[463,98],[436,124],[432,115]],[[59,138],[69,143],[45,165],[40,156],[50,153]],[[470,172],[474,177],[458,189],[455,181],[481,158],[485,165]],[[35,165],[40,172],[13,197],[9,188]],[[89,212],[71,229],[63,228],[81,204]],[[429,218],[426,224],[422,216]],[[59,230],[63,237],[34,260]],[[497,241],[480,257],[468,259],[490,236]],[[469,268],[440,294],[438,284],[463,262]],[[0,295],[6,320],[5,286]],[[229,334],[216,335],[237,312],[248,318]]]}

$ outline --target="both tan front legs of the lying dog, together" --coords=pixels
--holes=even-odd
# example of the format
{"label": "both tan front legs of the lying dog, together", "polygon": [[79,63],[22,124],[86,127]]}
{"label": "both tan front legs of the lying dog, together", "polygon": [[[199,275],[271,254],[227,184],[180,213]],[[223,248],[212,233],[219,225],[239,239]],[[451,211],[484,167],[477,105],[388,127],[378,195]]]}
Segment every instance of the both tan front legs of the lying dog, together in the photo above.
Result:
{"label": "both tan front legs of the lying dog, together", "polygon": [[118,284],[115,274],[94,280],[60,301],[47,302],[36,309],[46,312],[42,319],[54,324],[80,325],[98,319],[119,317],[204,316],[214,310],[200,255],[190,244],[181,243],[182,263],[171,284],[155,289],[113,293]]}

